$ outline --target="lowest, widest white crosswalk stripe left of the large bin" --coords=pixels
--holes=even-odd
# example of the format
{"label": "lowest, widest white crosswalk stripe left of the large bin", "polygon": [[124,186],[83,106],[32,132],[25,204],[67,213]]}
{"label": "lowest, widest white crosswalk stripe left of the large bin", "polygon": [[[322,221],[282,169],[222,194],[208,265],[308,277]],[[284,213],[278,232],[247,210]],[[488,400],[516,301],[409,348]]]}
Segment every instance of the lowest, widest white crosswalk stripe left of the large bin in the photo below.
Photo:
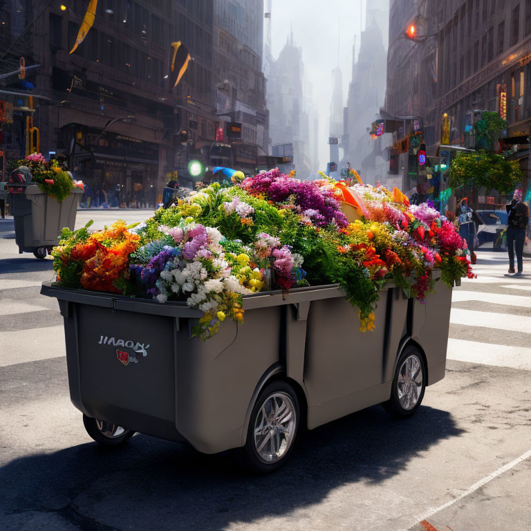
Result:
{"label": "lowest, widest white crosswalk stripe left of the large bin", "polygon": [[0,367],[66,355],[63,326],[1,333]]}

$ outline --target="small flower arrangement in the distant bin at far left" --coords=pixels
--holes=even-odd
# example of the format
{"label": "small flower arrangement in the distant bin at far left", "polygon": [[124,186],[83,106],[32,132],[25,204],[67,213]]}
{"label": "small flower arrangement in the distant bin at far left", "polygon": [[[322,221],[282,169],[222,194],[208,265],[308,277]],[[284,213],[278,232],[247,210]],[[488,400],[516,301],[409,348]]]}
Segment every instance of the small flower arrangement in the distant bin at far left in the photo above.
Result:
{"label": "small flower arrangement in the distant bin at far left", "polygon": [[42,192],[48,194],[59,201],[64,201],[74,187],[84,189],[82,181],[76,181],[68,175],[59,162],[55,159],[49,162],[41,153],[32,153],[26,158],[17,160],[12,169],[20,166],[27,166],[32,174],[33,182],[41,189]]}

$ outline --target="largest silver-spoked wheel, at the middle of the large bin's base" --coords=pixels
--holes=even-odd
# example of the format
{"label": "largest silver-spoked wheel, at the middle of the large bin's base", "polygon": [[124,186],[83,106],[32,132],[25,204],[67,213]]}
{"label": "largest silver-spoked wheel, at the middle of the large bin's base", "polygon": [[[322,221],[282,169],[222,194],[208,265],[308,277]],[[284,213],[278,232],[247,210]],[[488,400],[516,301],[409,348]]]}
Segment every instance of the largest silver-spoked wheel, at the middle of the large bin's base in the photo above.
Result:
{"label": "largest silver-spoked wheel, at the middle of the large bin's base", "polygon": [[290,384],[265,386],[252,409],[247,442],[239,449],[242,464],[258,474],[282,467],[295,445],[300,420],[299,400]]}

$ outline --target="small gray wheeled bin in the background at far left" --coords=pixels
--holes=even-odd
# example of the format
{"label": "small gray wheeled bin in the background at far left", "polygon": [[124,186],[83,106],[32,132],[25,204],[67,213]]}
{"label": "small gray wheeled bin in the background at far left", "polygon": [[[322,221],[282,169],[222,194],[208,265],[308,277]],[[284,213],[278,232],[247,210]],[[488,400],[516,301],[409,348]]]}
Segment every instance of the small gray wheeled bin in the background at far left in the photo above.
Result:
{"label": "small gray wheeled bin in the background at far left", "polygon": [[74,230],[77,201],[83,193],[73,188],[64,201],[48,196],[37,185],[17,185],[24,189],[18,194],[9,194],[11,213],[15,218],[15,242],[19,253],[32,252],[44,259],[46,250],[59,243],[59,234],[64,227]]}

